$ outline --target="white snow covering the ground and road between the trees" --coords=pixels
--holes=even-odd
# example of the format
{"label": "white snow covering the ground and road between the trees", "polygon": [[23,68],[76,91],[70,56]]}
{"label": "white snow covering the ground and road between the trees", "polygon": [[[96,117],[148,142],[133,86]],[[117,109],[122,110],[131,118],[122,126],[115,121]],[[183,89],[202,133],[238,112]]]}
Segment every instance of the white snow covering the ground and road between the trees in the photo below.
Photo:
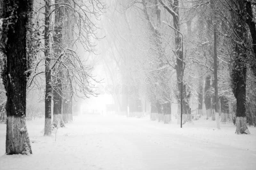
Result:
{"label": "white snow covering the ground and road between the trees", "polygon": [[6,125],[0,124],[0,169],[167,170],[256,169],[256,128],[235,134],[232,124],[203,117],[195,124],[171,124],[123,116],[74,117],[51,137],[44,119],[27,122],[32,155],[5,155]]}

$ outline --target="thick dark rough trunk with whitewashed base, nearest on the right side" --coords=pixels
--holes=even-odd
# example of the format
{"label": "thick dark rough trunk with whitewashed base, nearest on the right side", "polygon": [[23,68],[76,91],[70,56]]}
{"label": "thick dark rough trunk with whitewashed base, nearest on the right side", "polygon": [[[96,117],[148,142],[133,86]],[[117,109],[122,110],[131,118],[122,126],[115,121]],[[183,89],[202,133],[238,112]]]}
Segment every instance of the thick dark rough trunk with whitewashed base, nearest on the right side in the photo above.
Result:
{"label": "thick dark rough trunk with whitewashed base, nearest on the right side", "polygon": [[[236,6],[237,4],[234,3],[242,3],[241,1],[233,2],[233,6]],[[243,5],[240,6],[243,8]],[[241,9],[240,9],[241,10]],[[243,10],[243,9],[242,9]],[[246,32],[245,22],[243,18],[239,18],[241,16],[237,16],[237,13],[239,9],[236,8],[236,11],[233,11],[231,13],[232,16],[232,24],[234,26],[234,29],[237,32],[236,37],[233,37],[234,39],[237,39],[237,41],[243,41],[243,43],[246,43],[247,41],[247,35],[244,34]],[[237,24],[237,22],[239,22]],[[240,25],[240,26],[239,26]],[[231,65],[231,81],[232,81],[232,90],[234,93],[234,96],[236,97],[236,133],[242,134],[246,133],[249,134],[249,130],[246,125],[246,114],[245,114],[245,103],[246,103],[246,47],[244,47],[244,44],[238,44],[236,42],[233,42],[233,48],[234,52],[232,53],[232,65]]]}

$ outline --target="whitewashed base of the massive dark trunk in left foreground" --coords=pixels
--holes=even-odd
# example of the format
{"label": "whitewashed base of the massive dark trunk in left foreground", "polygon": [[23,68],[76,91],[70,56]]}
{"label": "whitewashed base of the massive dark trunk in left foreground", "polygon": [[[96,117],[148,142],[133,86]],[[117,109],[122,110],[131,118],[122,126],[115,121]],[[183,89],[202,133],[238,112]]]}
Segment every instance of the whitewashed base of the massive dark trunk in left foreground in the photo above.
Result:
{"label": "whitewashed base of the massive dark trunk in left foreground", "polygon": [[6,154],[30,154],[26,117],[7,116]]}

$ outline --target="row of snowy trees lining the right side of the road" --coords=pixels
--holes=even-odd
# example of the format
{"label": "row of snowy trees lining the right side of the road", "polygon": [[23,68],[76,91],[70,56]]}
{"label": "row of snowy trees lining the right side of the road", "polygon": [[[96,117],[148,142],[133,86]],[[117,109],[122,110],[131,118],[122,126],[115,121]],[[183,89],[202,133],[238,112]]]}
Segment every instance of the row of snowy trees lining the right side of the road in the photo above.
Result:
{"label": "row of snowy trees lining the right side of the road", "polygon": [[[135,92],[129,95],[149,101],[151,112],[157,112],[159,120],[167,123],[172,103],[180,104],[181,73],[184,72],[183,124],[192,121],[191,111],[198,108],[199,113],[212,120],[219,115],[221,122],[233,119],[237,133],[249,133],[246,124],[251,125],[255,120],[256,109],[253,102],[256,97],[254,1],[111,2],[113,8],[108,9],[104,20],[114,28],[106,32],[106,42],[112,47],[104,53],[109,54],[120,73],[120,77],[113,80],[114,85],[126,84],[128,89],[132,84],[145,85],[145,77],[151,78],[152,81],[146,83],[150,87],[164,89],[171,85],[171,89],[162,94]],[[116,24],[117,20],[120,25]],[[184,34],[183,63],[181,36],[162,21]],[[114,97],[118,108],[125,110],[125,96]],[[198,107],[193,107],[193,102],[198,103]],[[154,113],[151,119],[156,119]]]}

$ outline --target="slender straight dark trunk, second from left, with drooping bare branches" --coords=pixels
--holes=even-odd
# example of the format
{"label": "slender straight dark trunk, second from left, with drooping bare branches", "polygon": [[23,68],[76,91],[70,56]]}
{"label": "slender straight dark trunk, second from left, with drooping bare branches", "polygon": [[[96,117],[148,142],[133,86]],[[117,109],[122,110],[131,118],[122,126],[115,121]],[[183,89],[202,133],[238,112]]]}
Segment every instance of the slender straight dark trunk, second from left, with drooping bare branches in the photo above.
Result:
{"label": "slender straight dark trunk, second from left, with drooping bare branches", "polygon": [[45,57],[45,119],[44,136],[52,134],[52,79],[51,79],[51,54],[50,54],[50,0],[45,0],[45,21],[44,21],[44,57]]}

